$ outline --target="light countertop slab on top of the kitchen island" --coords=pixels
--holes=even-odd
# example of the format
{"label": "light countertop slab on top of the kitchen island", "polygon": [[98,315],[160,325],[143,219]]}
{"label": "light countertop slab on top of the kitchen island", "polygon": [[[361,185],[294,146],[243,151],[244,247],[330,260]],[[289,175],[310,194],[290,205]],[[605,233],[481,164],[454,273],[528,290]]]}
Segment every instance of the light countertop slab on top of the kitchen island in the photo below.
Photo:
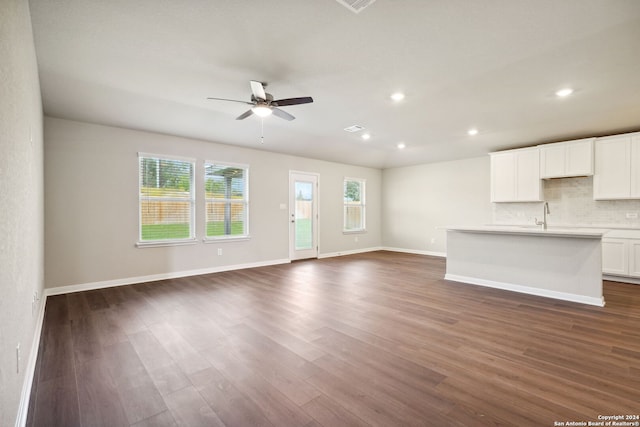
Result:
{"label": "light countertop slab on top of the kitchen island", "polygon": [[570,227],[549,227],[543,230],[541,227],[524,225],[462,225],[444,227],[447,231],[462,231],[471,233],[489,234],[521,234],[541,237],[575,237],[586,239],[600,239],[608,232],[600,228],[570,228]]}

